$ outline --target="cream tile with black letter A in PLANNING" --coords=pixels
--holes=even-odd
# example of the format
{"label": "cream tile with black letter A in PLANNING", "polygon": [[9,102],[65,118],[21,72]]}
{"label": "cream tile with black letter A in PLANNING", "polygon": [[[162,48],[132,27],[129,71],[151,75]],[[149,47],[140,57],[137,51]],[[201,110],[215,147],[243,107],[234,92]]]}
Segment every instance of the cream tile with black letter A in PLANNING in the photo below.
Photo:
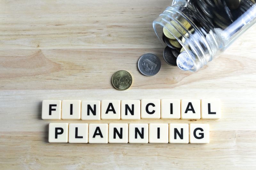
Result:
{"label": "cream tile with black letter A in PLANNING", "polygon": [[89,143],[108,143],[108,124],[89,124]]}

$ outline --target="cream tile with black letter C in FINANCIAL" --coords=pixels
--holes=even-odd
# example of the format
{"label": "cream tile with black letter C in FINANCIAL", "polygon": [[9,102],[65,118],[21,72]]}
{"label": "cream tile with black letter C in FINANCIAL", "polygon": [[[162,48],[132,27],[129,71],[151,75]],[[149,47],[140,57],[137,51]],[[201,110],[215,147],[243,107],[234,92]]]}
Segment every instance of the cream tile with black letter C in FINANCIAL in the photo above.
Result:
{"label": "cream tile with black letter C in FINANCIAL", "polygon": [[141,119],[160,119],[160,99],[141,100]]}

